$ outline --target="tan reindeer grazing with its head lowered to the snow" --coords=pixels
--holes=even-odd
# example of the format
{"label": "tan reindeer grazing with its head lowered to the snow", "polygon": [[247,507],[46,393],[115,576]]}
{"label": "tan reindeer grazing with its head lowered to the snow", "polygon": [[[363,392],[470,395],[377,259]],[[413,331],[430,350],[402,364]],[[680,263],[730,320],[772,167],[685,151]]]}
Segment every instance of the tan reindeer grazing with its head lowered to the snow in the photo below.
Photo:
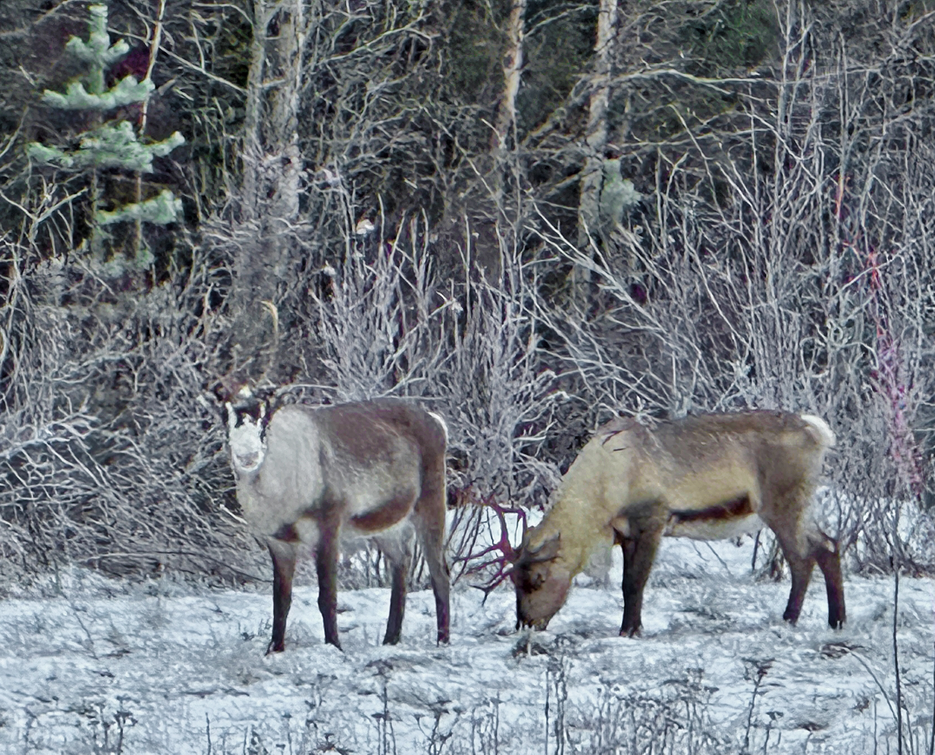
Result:
{"label": "tan reindeer grazing with its head lowered to the snow", "polygon": [[562,479],[551,511],[526,533],[511,573],[517,628],[545,629],[571,578],[600,546],[624,551],[622,635],[640,632],[643,588],[663,535],[729,538],[765,524],[792,572],[783,618],[798,620],[817,561],[827,621],[844,623],[838,545],[808,508],[834,434],[819,417],[784,412],[701,414],[654,428],[615,419],[599,428]]}

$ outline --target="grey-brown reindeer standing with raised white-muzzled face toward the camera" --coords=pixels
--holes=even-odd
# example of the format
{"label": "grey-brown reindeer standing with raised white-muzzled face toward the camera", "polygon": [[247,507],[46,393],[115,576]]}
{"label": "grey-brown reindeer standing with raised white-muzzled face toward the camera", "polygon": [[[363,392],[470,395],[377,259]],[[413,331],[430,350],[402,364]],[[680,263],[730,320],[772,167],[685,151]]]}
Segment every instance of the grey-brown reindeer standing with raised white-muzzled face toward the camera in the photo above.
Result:
{"label": "grey-brown reindeer standing with raised white-muzzled face toward the camera", "polygon": [[396,399],[312,409],[265,401],[226,403],[237,501],[266,536],[273,559],[273,637],[283,648],[300,544],[315,547],[324,641],[338,642],[338,544],[369,538],[391,564],[384,644],[396,644],[406,607],[412,535],[432,577],[439,643],[448,642],[445,534],[447,428],[437,414]]}

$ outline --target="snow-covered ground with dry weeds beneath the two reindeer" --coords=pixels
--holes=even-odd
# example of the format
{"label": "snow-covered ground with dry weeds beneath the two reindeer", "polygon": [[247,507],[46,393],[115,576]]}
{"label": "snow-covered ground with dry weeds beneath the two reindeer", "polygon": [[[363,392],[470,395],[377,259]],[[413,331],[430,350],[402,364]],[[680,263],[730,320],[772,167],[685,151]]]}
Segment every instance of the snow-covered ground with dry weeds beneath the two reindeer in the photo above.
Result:
{"label": "snow-covered ground with dry weeds beneath the two reindeer", "polygon": [[[296,588],[284,653],[265,657],[267,591],[109,582],[0,601],[2,753],[896,752],[893,581],[846,582],[827,627],[816,570],[798,627],[788,582],[755,583],[752,541],[667,541],[643,635],[617,636],[611,587],[577,587],[517,653],[510,589],[453,591],[451,646],[431,592],[380,645],[389,591],[339,594],[344,652]],[[905,752],[928,752],[933,581],[899,585]]]}

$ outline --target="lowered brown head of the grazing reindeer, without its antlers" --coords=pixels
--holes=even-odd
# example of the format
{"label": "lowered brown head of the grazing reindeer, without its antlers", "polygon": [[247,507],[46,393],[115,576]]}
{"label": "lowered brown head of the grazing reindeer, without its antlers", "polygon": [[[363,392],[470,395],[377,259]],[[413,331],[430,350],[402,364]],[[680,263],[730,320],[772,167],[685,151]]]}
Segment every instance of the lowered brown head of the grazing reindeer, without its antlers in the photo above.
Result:
{"label": "lowered brown head of the grazing reindeer, without its antlers", "polygon": [[558,562],[561,535],[533,546],[524,538],[510,576],[516,586],[516,629],[544,630],[568,598],[571,573]]}

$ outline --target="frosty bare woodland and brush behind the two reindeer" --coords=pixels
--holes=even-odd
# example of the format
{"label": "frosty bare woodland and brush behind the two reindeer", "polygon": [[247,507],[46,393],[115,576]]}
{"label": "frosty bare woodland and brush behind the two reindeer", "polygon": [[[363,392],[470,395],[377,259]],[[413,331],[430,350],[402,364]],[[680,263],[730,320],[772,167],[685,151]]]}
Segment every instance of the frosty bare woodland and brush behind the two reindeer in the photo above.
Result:
{"label": "frosty bare woodland and brush behind the two reindeer", "polygon": [[[121,0],[151,94],[51,107],[89,12],[0,3],[8,579],[266,574],[208,398],[248,380],[444,414],[461,559],[613,414],[808,411],[850,568],[935,567],[928,0]],[[107,123],[185,142],[30,151]]]}

